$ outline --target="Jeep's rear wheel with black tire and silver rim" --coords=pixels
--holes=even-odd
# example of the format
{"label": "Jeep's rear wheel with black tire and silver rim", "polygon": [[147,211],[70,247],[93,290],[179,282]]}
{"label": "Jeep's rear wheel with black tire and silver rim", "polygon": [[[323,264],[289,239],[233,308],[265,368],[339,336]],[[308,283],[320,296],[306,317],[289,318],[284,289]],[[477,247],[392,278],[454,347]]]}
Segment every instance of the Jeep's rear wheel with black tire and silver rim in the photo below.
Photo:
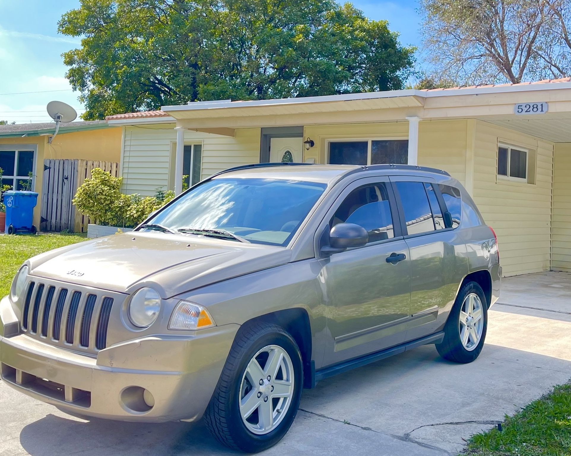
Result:
{"label": "Jeep's rear wheel with black tire and silver rim", "polygon": [[488,329],[488,302],[477,282],[465,283],[444,326],[444,339],[436,345],[441,357],[457,363],[474,361],[484,346]]}

